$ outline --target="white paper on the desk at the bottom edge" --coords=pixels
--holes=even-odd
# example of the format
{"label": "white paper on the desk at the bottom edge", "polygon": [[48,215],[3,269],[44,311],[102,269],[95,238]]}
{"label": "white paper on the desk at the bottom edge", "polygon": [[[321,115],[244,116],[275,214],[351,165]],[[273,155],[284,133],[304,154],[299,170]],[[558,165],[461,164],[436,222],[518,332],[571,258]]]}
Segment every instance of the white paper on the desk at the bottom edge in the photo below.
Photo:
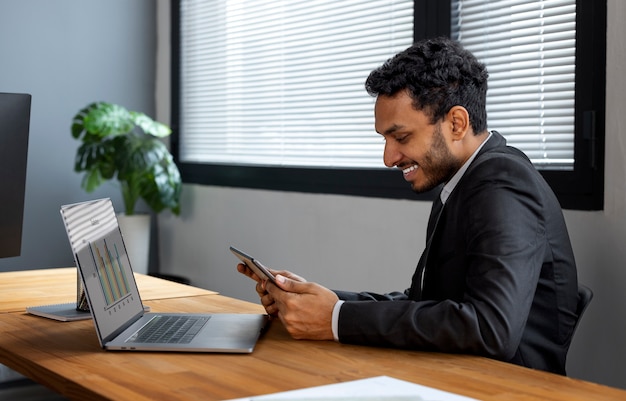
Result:
{"label": "white paper on the desk at the bottom edge", "polygon": [[301,390],[239,398],[232,401],[476,401],[447,391],[378,376],[326,386],[310,387]]}

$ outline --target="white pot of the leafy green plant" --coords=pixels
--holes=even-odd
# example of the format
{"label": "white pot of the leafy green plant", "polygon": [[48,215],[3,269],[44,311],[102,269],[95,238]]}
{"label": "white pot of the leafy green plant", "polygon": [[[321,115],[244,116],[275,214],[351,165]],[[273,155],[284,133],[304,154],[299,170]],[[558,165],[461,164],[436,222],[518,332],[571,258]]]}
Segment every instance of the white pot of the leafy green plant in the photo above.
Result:
{"label": "white pot of the leafy green plant", "polygon": [[150,215],[119,213],[117,221],[126,245],[130,266],[135,273],[148,274],[150,259]]}

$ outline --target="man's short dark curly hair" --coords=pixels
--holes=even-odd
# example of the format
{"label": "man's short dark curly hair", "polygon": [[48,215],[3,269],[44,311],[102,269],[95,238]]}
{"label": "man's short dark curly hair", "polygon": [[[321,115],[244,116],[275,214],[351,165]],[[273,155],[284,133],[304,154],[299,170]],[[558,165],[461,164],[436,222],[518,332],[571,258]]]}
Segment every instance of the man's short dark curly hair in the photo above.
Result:
{"label": "man's short dark curly hair", "polygon": [[413,107],[434,124],[456,105],[469,113],[475,134],[487,129],[485,65],[448,38],[426,39],[387,60],[365,81],[371,96],[393,96],[406,90]]}

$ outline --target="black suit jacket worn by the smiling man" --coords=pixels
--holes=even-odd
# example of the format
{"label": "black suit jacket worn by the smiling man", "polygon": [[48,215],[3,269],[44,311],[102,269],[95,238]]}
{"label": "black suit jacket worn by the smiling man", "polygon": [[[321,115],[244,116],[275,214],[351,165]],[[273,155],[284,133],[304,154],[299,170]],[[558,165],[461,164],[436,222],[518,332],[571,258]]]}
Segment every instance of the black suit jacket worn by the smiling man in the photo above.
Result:
{"label": "black suit jacket worn by the smiling man", "polygon": [[450,194],[428,260],[422,255],[423,291],[418,274],[404,292],[336,291],[346,301],[341,342],[565,373],[578,283],[561,207],[528,158],[492,134]]}

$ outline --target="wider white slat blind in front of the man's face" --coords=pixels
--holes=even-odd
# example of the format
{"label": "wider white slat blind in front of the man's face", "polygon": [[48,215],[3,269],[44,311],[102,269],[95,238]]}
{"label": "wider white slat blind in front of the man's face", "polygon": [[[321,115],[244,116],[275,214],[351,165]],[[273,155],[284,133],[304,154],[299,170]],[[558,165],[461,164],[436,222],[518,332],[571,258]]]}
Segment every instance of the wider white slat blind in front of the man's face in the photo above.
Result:
{"label": "wider white slat blind in front of the man's face", "polygon": [[412,36],[412,0],[183,0],[180,159],[384,167],[364,82]]}

